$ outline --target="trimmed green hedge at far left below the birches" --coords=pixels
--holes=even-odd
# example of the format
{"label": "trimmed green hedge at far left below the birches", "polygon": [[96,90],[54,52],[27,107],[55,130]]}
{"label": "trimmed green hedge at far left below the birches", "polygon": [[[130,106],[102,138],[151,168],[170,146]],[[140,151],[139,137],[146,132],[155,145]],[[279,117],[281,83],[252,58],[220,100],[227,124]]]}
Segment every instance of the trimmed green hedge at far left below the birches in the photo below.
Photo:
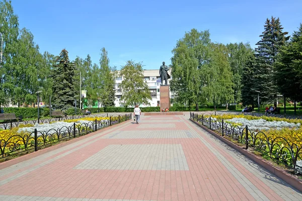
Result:
{"label": "trimmed green hedge at far left below the birches", "polygon": [[[3,108],[4,113],[15,113],[16,117],[38,118],[38,108]],[[40,108],[40,118],[49,116],[49,108]]]}

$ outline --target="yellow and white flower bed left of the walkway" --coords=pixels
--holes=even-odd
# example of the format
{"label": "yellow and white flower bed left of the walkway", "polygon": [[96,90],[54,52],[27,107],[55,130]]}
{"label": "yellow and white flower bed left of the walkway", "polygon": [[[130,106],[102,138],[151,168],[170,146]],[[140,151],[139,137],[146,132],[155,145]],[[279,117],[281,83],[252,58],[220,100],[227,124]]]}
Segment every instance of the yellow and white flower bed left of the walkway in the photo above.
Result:
{"label": "yellow and white flower bed left of the walkway", "polygon": [[0,129],[0,158],[97,131],[131,119],[131,114],[111,117],[86,117],[45,124],[21,124],[9,130]]}

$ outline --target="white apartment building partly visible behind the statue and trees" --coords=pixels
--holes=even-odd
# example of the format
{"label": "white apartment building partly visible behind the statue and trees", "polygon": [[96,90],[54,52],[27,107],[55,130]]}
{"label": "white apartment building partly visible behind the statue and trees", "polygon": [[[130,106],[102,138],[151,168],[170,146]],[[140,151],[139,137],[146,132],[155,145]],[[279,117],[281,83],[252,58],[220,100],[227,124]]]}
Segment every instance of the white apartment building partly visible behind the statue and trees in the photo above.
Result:
{"label": "white apartment building partly visible behind the statue and trees", "polygon": [[[168,71],[168,73],[171,75],[171,69]],[[161,77],[159,70],[144,70],[144,81],[147,83],[150,94],[152,99],[149,100],[149,106],[151,107],[157,107],[160,106],[160,86],[161,86]],[[123,77],[116,77],[115,79],[115,107],[123,107],[124,103],[121,100],[121,97],[123,95],[122,89],[119,88],[119,84],[122,82]],[[170,80],[168,80],[169,83]],[[165,82],[165,81],[164,81]],[[173,95],[171,95],[170,91],[170,98],[174,98]],[[148,107],[148,105],[140,105],[139,107]]]}

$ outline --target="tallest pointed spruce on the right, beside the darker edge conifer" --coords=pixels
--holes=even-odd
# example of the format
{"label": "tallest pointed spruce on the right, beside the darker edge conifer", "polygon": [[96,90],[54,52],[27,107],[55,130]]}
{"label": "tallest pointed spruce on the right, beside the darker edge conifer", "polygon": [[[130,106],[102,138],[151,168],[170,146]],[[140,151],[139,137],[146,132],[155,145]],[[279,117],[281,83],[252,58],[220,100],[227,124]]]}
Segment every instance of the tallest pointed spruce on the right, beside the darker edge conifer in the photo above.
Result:
{"label": "tallest pointed spruce on the right, beside the darker edge conifer", "polygon": [[289,36],[282,31],[279,18],[266,19],[264,32],[255,49],[254,81],[257,83],[255,90],[261,91],[262,100],[274,103],[277,98],[278,87],[274,78],[274,62],[280,48],[285,45]]}

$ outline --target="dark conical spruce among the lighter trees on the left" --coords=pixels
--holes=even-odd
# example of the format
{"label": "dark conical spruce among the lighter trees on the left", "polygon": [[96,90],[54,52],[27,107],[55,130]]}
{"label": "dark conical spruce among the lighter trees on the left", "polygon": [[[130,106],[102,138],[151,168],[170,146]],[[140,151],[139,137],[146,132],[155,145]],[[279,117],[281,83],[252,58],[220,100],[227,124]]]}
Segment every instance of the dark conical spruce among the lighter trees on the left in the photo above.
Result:
{"label": "dark conical spruce among the lighter trees on the left", "polygon": [[53,65],[53,99],[57,109],[72,107],[75,90],[73,84],[74,64],[69,61],[67,50],[63,49]]}

